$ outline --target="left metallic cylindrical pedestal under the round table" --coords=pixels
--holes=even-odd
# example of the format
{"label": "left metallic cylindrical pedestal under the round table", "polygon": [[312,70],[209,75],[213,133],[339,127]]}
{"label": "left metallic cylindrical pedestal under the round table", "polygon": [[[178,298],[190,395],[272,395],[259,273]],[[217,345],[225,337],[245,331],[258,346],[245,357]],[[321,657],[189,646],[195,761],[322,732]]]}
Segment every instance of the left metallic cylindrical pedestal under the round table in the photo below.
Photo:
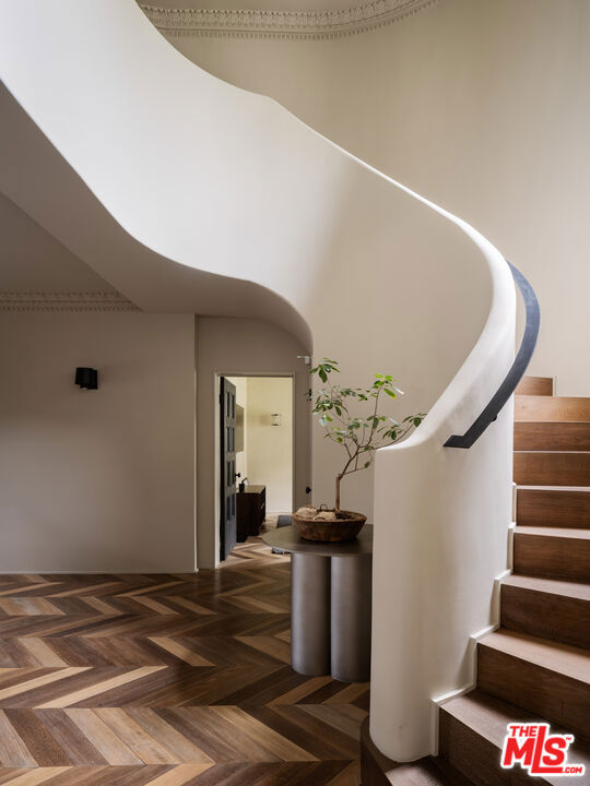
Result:
{"label": "left metallic cylindrical pedestal under the round table", "polygon": [[330,674],[330,557],[291,555],[291,665]]}

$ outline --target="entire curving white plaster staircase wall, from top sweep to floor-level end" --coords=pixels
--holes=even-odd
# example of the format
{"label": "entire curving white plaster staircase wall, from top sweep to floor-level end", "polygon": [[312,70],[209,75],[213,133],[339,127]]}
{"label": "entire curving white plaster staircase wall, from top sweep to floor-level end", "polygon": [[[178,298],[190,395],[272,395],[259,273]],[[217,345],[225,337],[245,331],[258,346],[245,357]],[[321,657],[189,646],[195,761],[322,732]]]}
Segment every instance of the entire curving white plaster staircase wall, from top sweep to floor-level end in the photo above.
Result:
{"label": "entire curving white plaster staircase wall, from top sweep to floor-level end", "polygon": [[[470,678],[469,635],[506,562],[509,412],[472,450],[442,448],[511,361],[502,257],[189,63],[132,0],[4,0],[2,19],[10,199],[145,310],[266,315],[354,380],[392,368],[408,407],[429,410],[380,452],[374,493],[352,486],[345,501],[375,500],[371,734],[393,759],[430,752],[430,699]],[[332,455],[319,439],[314,454],[329,498]]]}

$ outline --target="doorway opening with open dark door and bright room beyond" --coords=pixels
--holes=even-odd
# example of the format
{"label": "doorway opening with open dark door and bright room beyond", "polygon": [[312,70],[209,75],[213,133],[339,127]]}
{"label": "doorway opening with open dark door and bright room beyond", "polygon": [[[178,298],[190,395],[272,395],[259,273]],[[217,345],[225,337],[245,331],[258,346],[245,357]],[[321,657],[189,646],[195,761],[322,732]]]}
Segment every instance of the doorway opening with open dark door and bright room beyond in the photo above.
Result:
{"label": "doorway opening with open dark door and bright room beyond", "polygon": [[294,378],[220,379],[220,559],[294,504]]}

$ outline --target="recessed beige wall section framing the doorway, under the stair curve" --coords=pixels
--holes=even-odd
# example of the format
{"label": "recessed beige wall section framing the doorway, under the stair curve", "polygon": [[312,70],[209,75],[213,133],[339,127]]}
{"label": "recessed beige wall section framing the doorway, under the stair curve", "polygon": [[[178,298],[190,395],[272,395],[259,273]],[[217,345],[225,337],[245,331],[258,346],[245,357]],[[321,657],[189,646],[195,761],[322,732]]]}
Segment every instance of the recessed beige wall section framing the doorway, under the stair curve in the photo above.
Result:
{"label": "recessed beige wall section framing the doorway, under the stair curve", "polygon": [[[262,320],[197,319],[197,540],[200,568],[219,561],[217,442],[219,376],[293,374],[295,379],[295,504],[310,485],[309,374],[297,355],[305,352],[288,333]],[[249,397],[249,396],[248,396]],[[248,467],[250,469],[250,467]]]}

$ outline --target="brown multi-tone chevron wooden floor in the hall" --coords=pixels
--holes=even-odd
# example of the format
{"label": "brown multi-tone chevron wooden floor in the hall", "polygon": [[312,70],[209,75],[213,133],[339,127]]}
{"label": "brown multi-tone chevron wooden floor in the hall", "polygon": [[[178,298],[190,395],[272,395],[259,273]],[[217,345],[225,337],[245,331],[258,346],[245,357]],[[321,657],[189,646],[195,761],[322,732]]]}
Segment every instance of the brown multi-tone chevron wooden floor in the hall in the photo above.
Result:
{"label": "brown multi-tone chevron wooden floor in the hall", "polygon": [[291,669],[288,571],[0,576],[0,784],[358,786],[368,684]]}

